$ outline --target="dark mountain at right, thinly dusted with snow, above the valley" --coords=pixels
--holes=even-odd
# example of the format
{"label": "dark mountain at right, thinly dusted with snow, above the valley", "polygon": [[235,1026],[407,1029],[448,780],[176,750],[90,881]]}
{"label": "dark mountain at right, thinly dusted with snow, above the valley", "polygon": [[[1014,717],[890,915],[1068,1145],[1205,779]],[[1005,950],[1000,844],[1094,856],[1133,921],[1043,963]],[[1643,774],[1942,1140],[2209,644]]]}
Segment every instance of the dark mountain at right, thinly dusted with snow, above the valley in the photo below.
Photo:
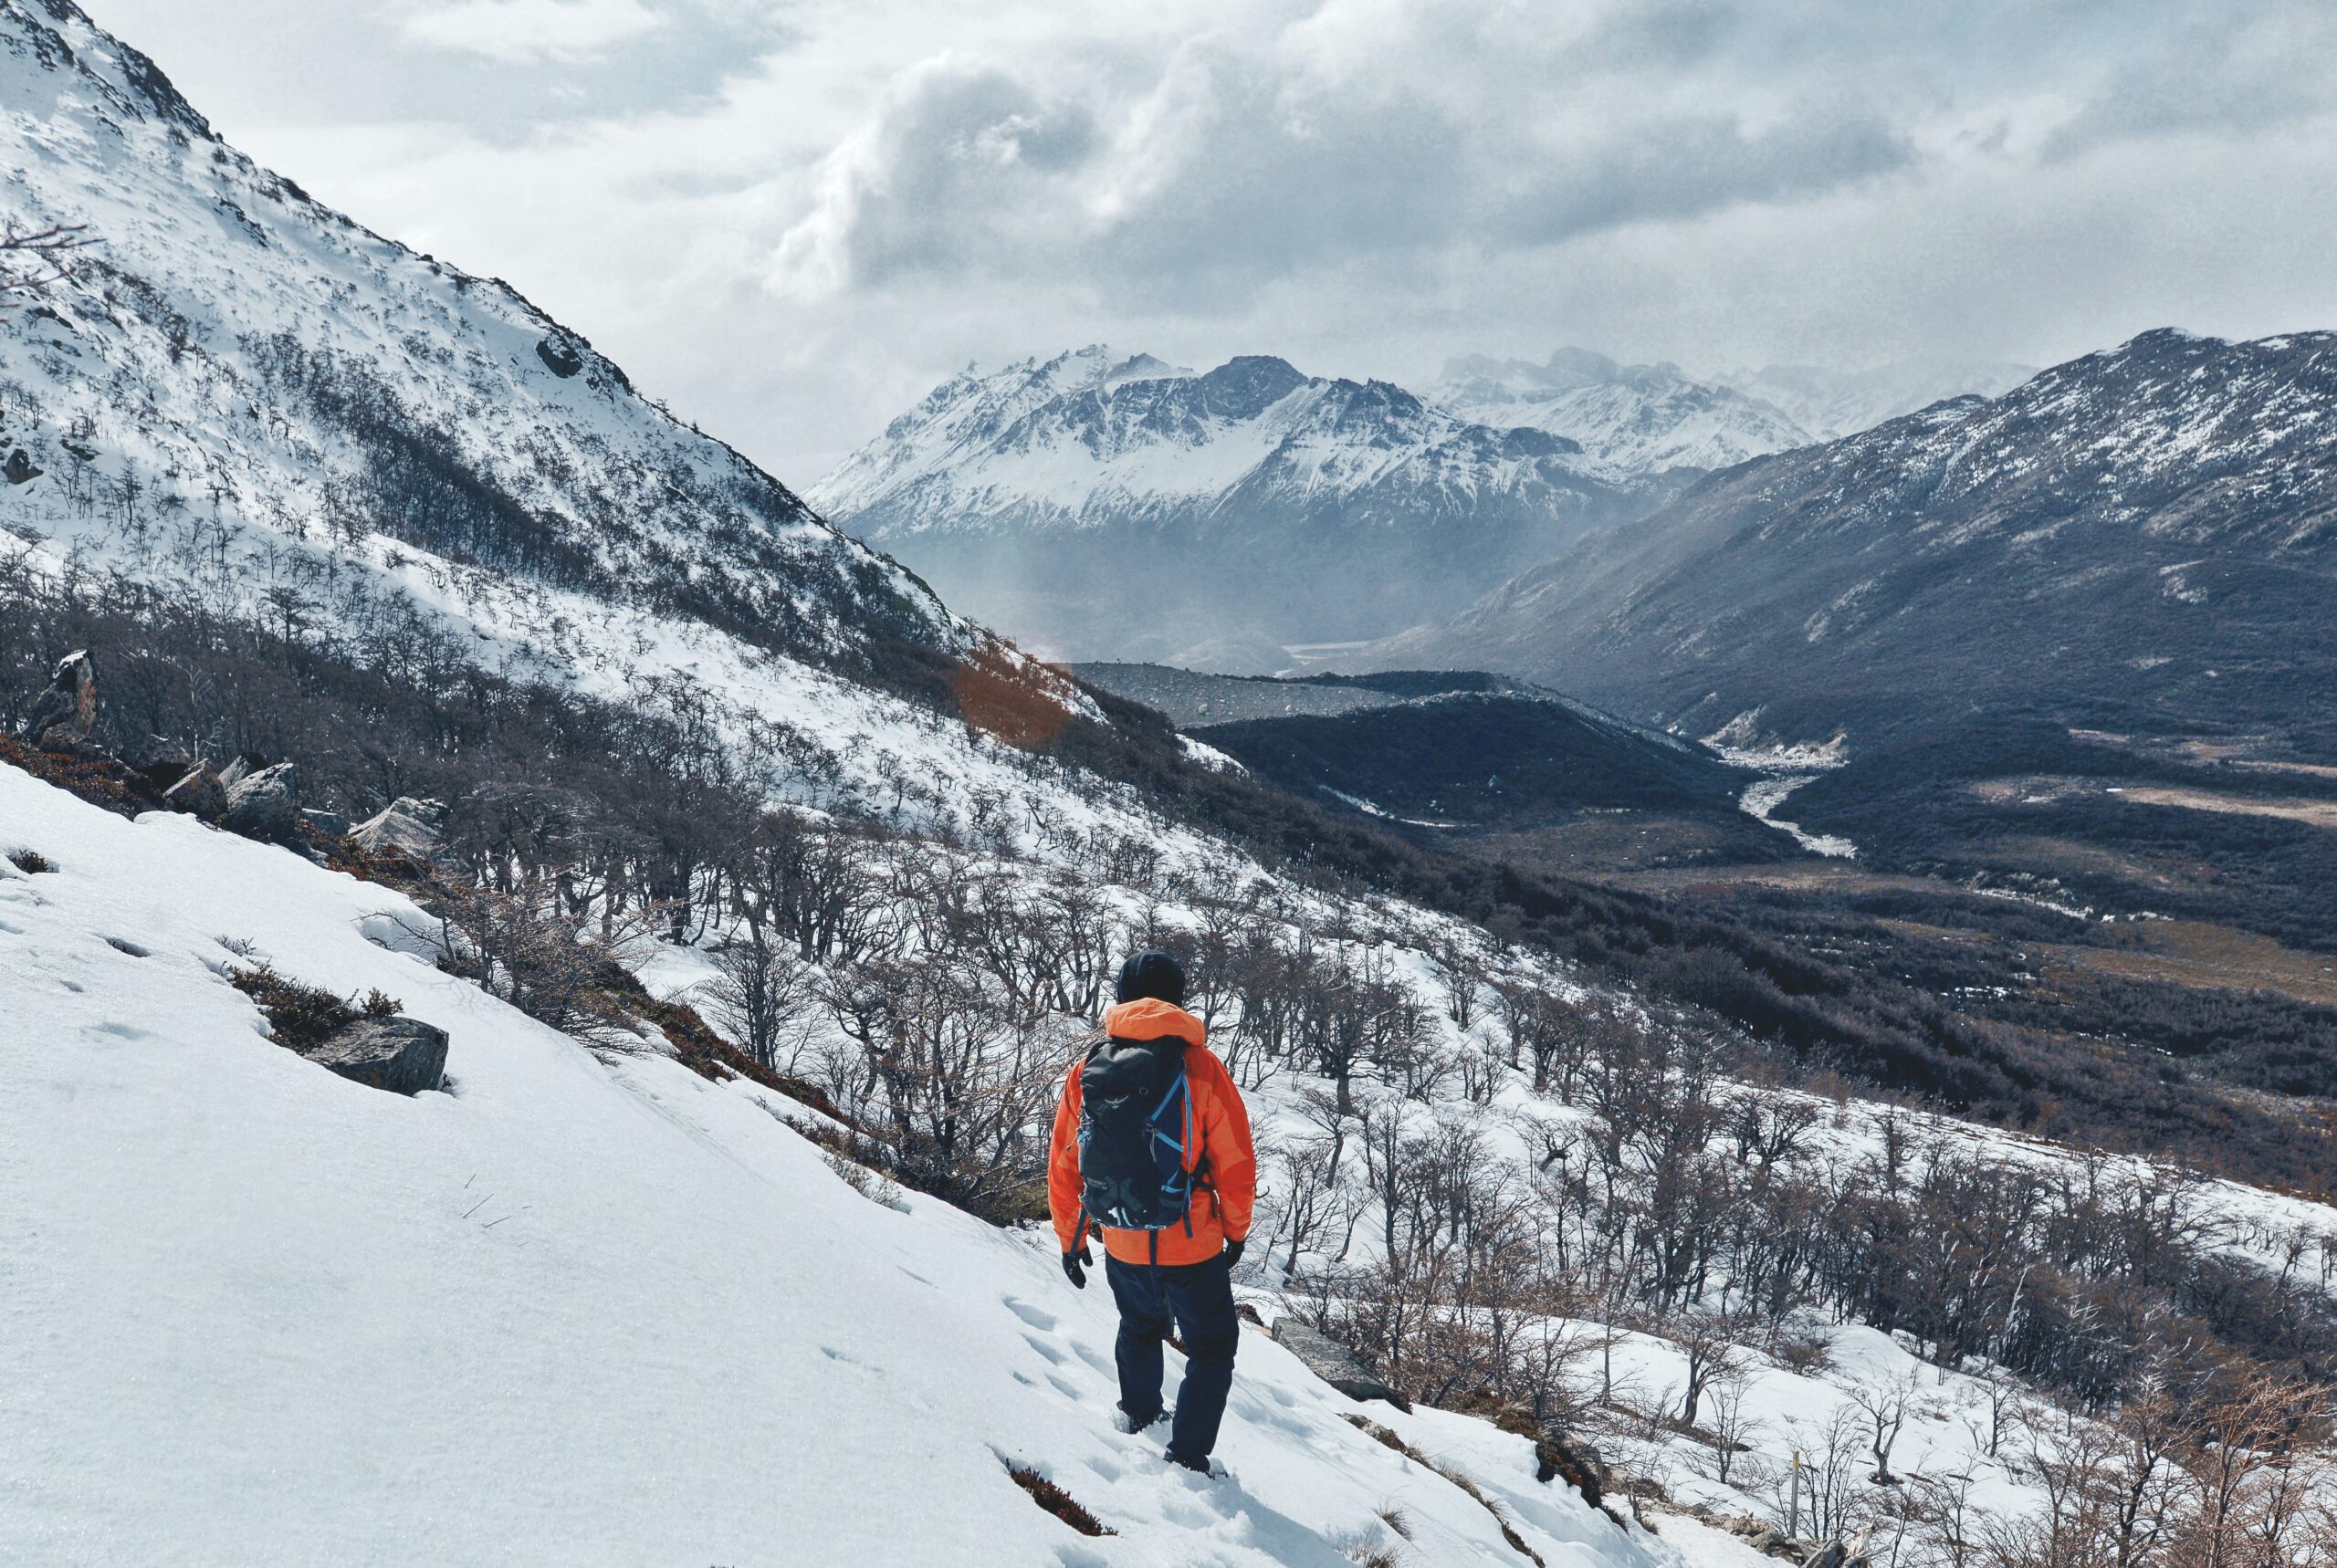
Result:
{"label": "dark mountain at right, thinly dusted with snow, above the valley", "polygon": [[2337,334],[2169,329],[1713,474],[1374,654],[1692,734],[2031,706],[2337,738],[2330,605]]}

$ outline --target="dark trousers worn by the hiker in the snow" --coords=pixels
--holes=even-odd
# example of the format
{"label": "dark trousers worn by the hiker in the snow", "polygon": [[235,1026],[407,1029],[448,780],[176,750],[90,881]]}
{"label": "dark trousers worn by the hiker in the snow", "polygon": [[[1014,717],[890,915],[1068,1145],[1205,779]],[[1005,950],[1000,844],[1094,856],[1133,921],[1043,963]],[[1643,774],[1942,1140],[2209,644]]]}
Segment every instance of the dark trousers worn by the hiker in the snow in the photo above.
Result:
{"label": "dark trousers worn by the hiker in the snow", "polygon": [[1103,1278],[1112,1281],[1119,1302],[1119,1409],[1138,1425],[1161,1414],[1161,1341],[1176,1323],[1185,1341],[1185,1386],[1176,1395],[1168,1453],[1206,1461],[1218,1446],[1225,1395],[1234,1388],[1234,1346],[1241,1344],[1225,1257],[1159,1269],[1105,1257]]}

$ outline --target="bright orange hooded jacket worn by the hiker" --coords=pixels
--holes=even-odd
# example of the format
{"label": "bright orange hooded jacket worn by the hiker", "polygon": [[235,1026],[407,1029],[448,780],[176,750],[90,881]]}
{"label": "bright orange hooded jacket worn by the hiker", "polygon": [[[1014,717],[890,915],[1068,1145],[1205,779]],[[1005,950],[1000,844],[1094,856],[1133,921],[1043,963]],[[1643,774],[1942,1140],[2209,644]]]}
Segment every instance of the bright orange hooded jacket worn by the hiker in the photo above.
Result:
{"label": "bright orange hooded jacket worn by the hiker", "polygon": [[[1194,1164],[1208,1159],[1208,1187],[1192,1194],[1192,1236],[1183,1224],[1159,1231],[1159,1257],[1150,1231],[1122,1231],[1098,1224],[1103,1250],[1124,1264],[1199,1264],[1225,1250],[1227,1241],[1250,1234],[1250,1203],[1257,1201],[1257,1150],[1250,1147],[1250,1110],[1241,1103],[1232,1075],[1208,1049],[1201,1019],[1183,1007],[1152,998],[1122,1002],[1103,1014],[1103,1033],[1112,1040],[1185,1042],[1185,1087],[1192,1129],[1185,1138]],[[1070,1063],[1063,1077],[1063,1103],[1054,1108],[1054,1147],[1047,1154],[1047,1208],[1054,1213],[1054,1236],[1070,1253],[1080,1246],[1080,1070],[1087,1056]],[[1192,1166],[1187,1166],[1192,1168]]]}

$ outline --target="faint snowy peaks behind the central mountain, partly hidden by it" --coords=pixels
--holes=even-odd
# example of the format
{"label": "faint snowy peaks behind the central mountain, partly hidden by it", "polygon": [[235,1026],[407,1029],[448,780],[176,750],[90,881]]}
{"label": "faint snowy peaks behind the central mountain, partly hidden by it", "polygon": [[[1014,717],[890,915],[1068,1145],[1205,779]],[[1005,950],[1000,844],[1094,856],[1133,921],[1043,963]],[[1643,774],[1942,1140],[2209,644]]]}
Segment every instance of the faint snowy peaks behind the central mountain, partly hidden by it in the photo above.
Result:
{"label": "faint snowy peaks behind the central mountain, partly hidden by it", "polygon": [[1531,425],[1580,442],[1627,474],[1734,467],[1818,439],[1757,395],[1697,381],[1678,365],[1617,365],[1587,348],[1559,348],[1547,365],[1451,360],[1428,397],[1484,425]]}

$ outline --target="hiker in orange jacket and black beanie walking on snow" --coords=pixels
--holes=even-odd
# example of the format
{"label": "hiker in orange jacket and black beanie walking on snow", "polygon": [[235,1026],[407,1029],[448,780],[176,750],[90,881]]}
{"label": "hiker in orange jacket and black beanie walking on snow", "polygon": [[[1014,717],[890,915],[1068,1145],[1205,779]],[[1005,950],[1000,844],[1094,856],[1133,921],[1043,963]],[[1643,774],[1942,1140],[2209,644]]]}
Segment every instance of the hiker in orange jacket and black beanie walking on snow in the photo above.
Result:
{"label": "hiker in orange jacket and black beanie walking on snow", "polygon": [[1168,1458],[1208,1475],[1241,1341],[1232,1276],[1250,1234],[1257,1154],[1241,1091],[1183,1000],[1185,970],[1168,953],[1122,965],[1103,1040],[1063,1077],[1047,1208],[1080,1290],[1094,1262],[1087,1227],[1103,1229],[1103,1278],[1119,1304],[1119,1430],[1161,1418],[1161,1341],[1176,1323],[1185,1386]]}

